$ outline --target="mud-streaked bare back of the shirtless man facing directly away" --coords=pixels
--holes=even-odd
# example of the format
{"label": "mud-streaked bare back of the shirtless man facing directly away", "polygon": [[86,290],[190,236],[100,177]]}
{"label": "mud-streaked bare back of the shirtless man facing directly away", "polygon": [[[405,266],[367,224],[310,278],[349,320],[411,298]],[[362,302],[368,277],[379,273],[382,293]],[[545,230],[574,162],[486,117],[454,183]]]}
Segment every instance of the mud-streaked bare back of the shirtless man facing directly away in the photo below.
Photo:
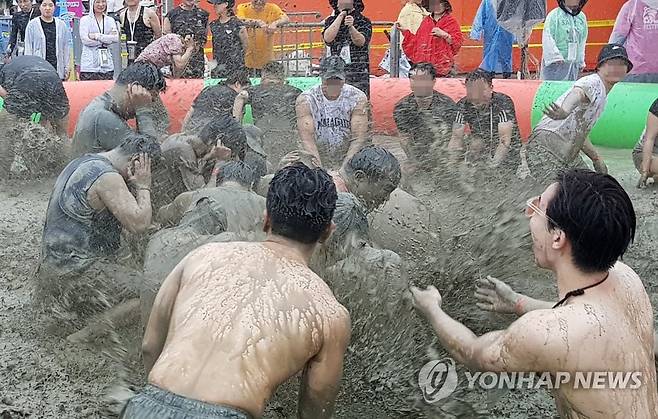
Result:
{"label": "mud-streaked bare back of the shirtless man facing directly away", "polygon": [[342,370],[349,314],[290,249],[205,245],[165,281],[153,313],[171,292],[166,344],[149,375],[157,387],[260,417],[277,386],[305,365],[310,380],[333,380],[313,371],[327,362]]}

